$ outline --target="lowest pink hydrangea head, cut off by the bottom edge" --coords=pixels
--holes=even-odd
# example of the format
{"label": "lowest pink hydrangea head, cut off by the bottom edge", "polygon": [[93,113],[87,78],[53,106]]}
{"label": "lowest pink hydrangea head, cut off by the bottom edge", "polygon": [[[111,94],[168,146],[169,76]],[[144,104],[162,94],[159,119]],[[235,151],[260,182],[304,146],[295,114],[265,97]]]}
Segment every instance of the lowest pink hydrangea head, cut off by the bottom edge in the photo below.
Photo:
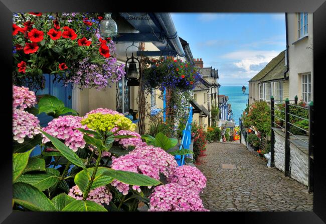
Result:
{"label": "lowest pink hydrangea head, cut off by the bottom edge", "polygon": [[197,192],[178,183],[156,186],[149,197],[148,211],[209,211]]}

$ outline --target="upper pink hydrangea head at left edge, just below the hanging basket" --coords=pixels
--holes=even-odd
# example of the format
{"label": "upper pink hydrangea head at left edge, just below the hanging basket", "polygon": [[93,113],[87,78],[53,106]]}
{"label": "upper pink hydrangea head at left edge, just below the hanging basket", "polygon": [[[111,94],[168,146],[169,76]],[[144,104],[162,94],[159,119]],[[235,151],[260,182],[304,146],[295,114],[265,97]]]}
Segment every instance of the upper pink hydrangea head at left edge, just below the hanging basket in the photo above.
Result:
{"label": "upper pink hydrangea head at left edge, just below the hanging basket", "polygon": [[25,109],[36,104],[35,92],[30,91],[27,87],[13,85],[13,109],[19,107]]}

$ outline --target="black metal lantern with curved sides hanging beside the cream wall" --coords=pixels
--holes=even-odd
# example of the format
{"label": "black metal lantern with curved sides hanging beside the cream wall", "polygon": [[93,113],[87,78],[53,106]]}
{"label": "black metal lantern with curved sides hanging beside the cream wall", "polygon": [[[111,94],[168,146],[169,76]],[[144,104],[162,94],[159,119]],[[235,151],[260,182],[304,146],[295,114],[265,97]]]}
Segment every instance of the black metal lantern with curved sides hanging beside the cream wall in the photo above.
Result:
{"label": "black metal lantern with curved sides hanging beside the cream wall", "polygon": [[[131,61],[128,62],[129,60]],[[127,86],[138,86],[141,75],[140,62],[137,57],[133,56],[133,53],[131,54],[131,57],[127,57],[125,72],[125,77],[128,80]]]}

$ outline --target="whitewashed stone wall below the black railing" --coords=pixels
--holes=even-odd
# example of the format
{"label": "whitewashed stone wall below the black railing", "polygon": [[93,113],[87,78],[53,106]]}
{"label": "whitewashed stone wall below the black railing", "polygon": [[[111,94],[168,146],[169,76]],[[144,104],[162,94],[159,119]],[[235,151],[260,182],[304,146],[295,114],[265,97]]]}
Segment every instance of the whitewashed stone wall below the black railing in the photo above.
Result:
{"label": "whitewashed stone wall below the black railing", "polygon": [[[284,171],[285,133],[274,128],[274,164]],[[308,154],[307,149],[294,139],[290,139],[290,177],[308,185]]]}

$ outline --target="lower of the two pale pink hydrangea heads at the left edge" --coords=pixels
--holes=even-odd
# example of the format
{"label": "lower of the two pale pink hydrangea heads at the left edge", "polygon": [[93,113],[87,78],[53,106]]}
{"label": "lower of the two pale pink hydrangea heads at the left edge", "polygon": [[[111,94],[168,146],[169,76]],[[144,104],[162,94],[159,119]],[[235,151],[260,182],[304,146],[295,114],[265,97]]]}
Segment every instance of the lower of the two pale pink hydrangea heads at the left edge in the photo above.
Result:
{"label": "lower of the two pale pink hydrangea heads at the left edge", "polygon": [[40,128],[40,120],[25,110],[13,110],[13,138],[19,143],[24,142],[24,138],[28,136],[32,138],[34,135],[40,133],[37,127]]}

